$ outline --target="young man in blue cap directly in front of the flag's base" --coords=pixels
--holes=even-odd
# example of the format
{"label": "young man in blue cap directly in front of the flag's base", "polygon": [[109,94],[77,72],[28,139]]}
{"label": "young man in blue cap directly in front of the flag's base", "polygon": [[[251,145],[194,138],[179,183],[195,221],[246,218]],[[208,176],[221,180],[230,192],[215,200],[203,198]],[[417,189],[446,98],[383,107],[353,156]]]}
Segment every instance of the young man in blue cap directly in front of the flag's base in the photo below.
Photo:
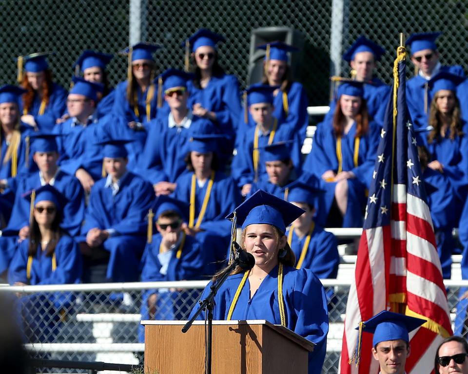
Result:
{"label": "young man in blue cap directly in front of the flag's base", "polygon": [[[405,374],[405,364],[410,354],[409,333],[425,322],[425,319],[384,310],[367,321],[362,321],[363,334],[359,334],[356,344],[361,346],[362,339],[367,334],[373,334],[372,356],[378,362],[380,374]],[[359,330],[359,326],[356,330]],[[353,356],[352,352],[351,356]],[[360,369],[365,369],[369,373],[377,373],[375,361],[372,362],[371,358],[363,355],[361,351],[356,351],[350,365],[359,362]]]}

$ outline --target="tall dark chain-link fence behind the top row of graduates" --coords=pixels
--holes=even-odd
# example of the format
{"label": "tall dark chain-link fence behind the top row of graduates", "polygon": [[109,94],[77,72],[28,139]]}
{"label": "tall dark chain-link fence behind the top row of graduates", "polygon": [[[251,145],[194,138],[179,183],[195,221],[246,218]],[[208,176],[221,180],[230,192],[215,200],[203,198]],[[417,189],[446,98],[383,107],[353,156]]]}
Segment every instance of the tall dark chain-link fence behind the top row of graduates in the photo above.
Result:
{"label": "tall dark chain-link fence behind the top row of graduates", "polygon": [[[343,27],[341,52],[360,35],[370,37],[388,51],[377,66],[377,75],[390,83],[399,32],[408,36],[413,32],[444,31],[438,40],[442,63],[465,65],[467,7],[467,1],[459,0],[4,0],[0,2],[0,75],[2,83],[13,83],[15,56],[55,51],[50,58],[51,68],[59,83],[68,88],[73,62],[84,49],[95,49],[116,55],[108,67],[110,82],[115,85],[126,76],[126,59],[117,52],[129,44],[131,29],[137,30],[133,38],[164,45],[156,53],[158,71],[162,72],[168,67],[183,67],[180,43],[206,27],[226,36],[227,42],[219,47],[221,65],[237,75],[241,87],[245,87],[251,31],[287,26],[304,36],[300,77],[310,104],[327,105],[328,78],[336,73],[331,69],[332,23]],[[130,17],[131,8],[139,12],[138,25]],[[342,12],[333,13],[336,8]],[[349,70],[342,62],[342,75],[348,76]]]}

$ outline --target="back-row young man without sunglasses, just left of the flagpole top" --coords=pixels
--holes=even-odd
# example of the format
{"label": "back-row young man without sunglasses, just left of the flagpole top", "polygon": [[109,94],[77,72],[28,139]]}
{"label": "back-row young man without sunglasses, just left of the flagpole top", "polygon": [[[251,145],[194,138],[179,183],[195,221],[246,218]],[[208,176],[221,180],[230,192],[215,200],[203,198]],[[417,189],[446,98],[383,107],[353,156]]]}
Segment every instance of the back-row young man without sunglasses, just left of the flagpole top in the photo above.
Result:
{"label": "back-row young man without sunglasses, just left of the flagpole top", "polygon": [[[364,99],[370,118],[382,126],[390,86],[374,76],[376,62],[385,54],[385,49],[366,37],[358,37],[343,55],[355,73],[354,79],[364,83]],[[331,100],[330,111],[324,121],[331,120],[335,112],[336,97]]]}

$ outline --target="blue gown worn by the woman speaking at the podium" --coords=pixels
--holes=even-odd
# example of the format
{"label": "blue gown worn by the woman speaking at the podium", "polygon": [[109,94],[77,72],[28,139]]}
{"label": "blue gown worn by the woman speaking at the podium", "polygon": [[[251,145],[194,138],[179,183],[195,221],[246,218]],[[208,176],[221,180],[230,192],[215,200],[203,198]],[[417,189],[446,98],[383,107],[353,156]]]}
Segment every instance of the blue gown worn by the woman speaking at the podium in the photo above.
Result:
{"label": "blue gown worn by the woman speaking at the podium", "polygon": [[[225,320],[243,274],[230,276],[215,296],[215,320]],[[308,269],[285,267],[283,273],[283,299],[286,327],[316,344],[309,354],[309,374],[319,374],[327,348],[328,310],[325,291],[317,277]],[[210,282],[200,299],[210,293]],[[278,266],[265,277],[254,296],[250,296],[250,283],[246,281],[237,300],[233,320],[266,319],[281,324],[278,306]],[[192,311],[192,315],[195,310]],[[202,312],[198,319],[205,319]]]}

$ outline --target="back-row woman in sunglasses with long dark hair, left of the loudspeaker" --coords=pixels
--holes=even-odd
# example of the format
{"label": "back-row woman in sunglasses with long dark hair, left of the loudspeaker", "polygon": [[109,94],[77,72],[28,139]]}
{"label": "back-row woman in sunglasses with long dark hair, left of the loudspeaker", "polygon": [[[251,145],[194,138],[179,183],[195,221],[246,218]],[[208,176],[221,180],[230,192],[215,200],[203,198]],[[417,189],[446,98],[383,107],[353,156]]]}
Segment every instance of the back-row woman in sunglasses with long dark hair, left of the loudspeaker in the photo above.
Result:
{"label": "back-row woman in sunglasses with long dark hair, left of the loudspeaker", "polygon": [[194,115],[209,119],[219,129],[219,133],[231,138],[231,149],[222,152],[232,156],[234,126],[237,125],[242,107],[237,78],[226,74],[218,63],[216,44],[224,41],[221,35],[200,29],[185,40],[183,47],[186,49],[186,61],[190,60],[190,66],[186,68],[194,74],[187,82],[190,92],[188,105]]}

